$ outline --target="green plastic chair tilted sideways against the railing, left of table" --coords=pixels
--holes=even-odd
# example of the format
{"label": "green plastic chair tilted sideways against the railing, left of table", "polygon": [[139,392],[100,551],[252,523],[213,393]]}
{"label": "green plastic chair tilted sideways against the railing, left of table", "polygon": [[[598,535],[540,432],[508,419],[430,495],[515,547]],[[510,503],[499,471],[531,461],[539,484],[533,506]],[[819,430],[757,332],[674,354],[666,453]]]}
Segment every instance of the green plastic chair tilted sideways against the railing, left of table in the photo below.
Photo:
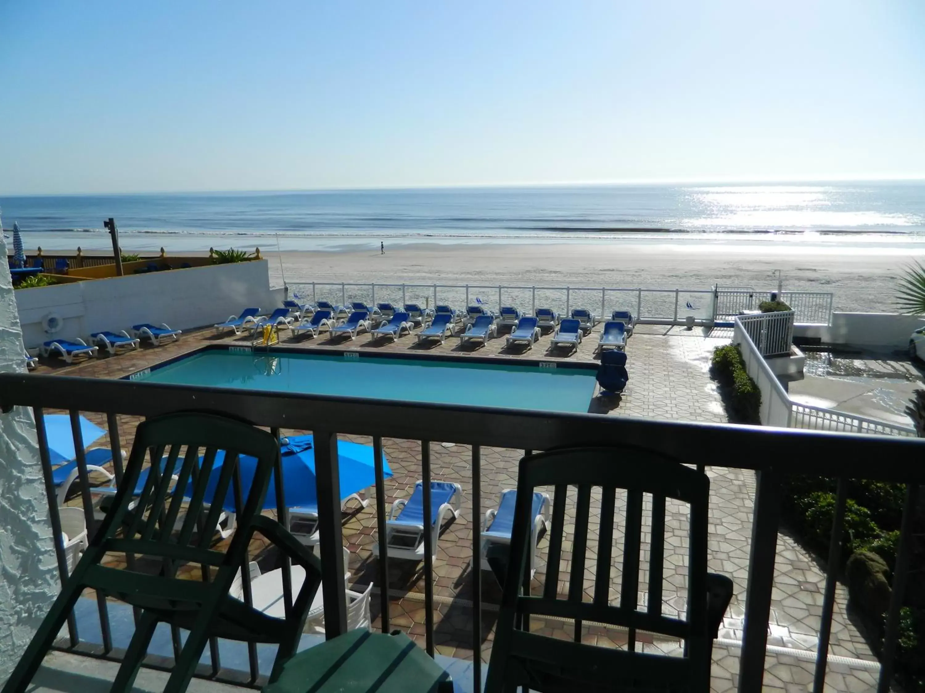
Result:
{"label": "green plastic chair tilted sideways against the railing, left of table", "polygon": [[[238,513],[238,529],[226,552],[213,550],[212,532],[203,530],[216,527],[222,512],[220,503],[203,509],[218,450],[225,451],[225,462],[215,497],[225,498],[231,489]],[[152,460],[165,459],[164,471],[160,473],[159,465],[151,465],[141,496],[133,498],[149,451]],[[241,488],[236,473],[241,455],[258,460],[249,489]],[[321,584],[318,559],[276,520],[260,514],[278,456],[278,443],[272,435],[234,419],[178,413],[140,424],[125,475],[105,519],[7,680],[4,693],[26,690],[80,592],[86,589],[99,590],[142,610],[113,683],[114,691],[131,689],[158,623],[190,631],[167,681],[168,693],[186,689],[206,643],[213,637],[277,643],[277,659],[270,675],[270,680],[275,680],[282,663],[295,653]],[[186,499],[188,488],[191,497]],[[183,516],[179,513],[181,505],[187,505]],[[295,598],[288,605],[286,618],[262,614],[228,594],[239,570],[244,593],[250,594],[247,550],[255,531],[305,568],[302,589],[297,596],[290,595]],[[125,554],[129,568],[103,565],[106,553]],[[141,561],[142,557],[146,560]],[[182,564],[199,565],[202,581],[176,577]],[[142,566],[146,566],[143,572]]]}

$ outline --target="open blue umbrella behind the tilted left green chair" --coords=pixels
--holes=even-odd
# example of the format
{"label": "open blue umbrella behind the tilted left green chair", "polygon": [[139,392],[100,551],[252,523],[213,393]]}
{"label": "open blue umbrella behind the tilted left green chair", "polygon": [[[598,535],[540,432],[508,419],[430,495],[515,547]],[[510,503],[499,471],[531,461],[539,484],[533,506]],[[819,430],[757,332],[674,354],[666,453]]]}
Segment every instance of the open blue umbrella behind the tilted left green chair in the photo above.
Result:
{"label": "open blue umbrella behind the tilted left green chair", "polygon": [[[282,452],[286,505],[288,507],[296,505],[311,507],[317,505],[318,494],[314,479],[313,437],[311,435],[300,435],[293,436],[288,440],[284,438],[279,449]],[[224,451],[219,451],[216,455],[216,463],[212,473],[209,475],[209,484],[205,489],[204,500],[211,505],[216,503],[218,470],[221,468],[224,457]],[[351,495],[351,493],[363,491],[376,483],[373,448],[369,445],[338,441],[338,459],[341,500]],[[244,499],[247,497],[248,489],[251,488],[256,465],[257,460],[255,457],[240,456],[241,494]],[[388,468],[385,455],[382,456],[382,466],[385,476],[390,477],[392,471]],[[274,473],[270,477],[270,486],[264,499],[264,508],[268,510],[272,510],[277,506],[275,476]],[[191,489],[187,488],[185,494],[189,497]],[[222,504],[222,507],[229,512],[234,512],[237,509],[234,502],[234,489],[231,485],[228,487],[228,494],[225,496],[225,503]]]}

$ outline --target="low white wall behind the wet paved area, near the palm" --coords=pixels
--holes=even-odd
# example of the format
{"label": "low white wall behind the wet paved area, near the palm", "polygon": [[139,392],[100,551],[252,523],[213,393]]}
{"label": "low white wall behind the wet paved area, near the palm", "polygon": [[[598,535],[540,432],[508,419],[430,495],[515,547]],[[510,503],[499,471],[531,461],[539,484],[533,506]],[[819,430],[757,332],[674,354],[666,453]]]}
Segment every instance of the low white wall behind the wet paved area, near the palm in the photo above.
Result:
{"label": "low white wall behind the wet paved area, near the palm", "polygon": [[824,344],[905,349],[925,318],[898,313],[833,313],[832,324],[796,324],[794,336],[819,337]]}

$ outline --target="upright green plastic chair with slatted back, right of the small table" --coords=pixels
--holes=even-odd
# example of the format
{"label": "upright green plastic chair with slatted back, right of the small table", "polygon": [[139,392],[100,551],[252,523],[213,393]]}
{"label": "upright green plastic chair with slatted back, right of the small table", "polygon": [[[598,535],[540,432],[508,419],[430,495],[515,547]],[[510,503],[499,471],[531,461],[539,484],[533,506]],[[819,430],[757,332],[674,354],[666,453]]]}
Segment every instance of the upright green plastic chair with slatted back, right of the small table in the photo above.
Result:
{"label": "upright green plastic chair with slatted back, right of the small table", "polygon": [[[522,590],[529,579],[531,501],[537,487],[555,487],[549,560],[542,596]],[[565,503],[577,487],[568,594],[558,594]],[[592,487],[599,489],[600,524],[592,601],[585,601],[586,553]],[[616,490],[626,490],[623,565],[619,606],[611,603],[611,559]],[[637,610],[643,494],[652,501],[648,607]],[[535,691],[709,691],[712,641],[732,598],[728,577],[707,573],[709,480],[651,451],[633,447],[574,448],[526,456],[520,462],[510,552],[495,546],[487,559],[504,585],[491,650],[487,693],[526,687]],[[690,507],[686,619],[661,614],[665,501]],[[527,583],[528,584],[528,583]],[[699,599],[691,595],[700,595]],[[573,619],[575,640],[529,632],[530,616]],[[628,629],[626,650],[583,644],[582,622]],[[635,651],[635,632],[645,630],[685,640],[683,657]]]}

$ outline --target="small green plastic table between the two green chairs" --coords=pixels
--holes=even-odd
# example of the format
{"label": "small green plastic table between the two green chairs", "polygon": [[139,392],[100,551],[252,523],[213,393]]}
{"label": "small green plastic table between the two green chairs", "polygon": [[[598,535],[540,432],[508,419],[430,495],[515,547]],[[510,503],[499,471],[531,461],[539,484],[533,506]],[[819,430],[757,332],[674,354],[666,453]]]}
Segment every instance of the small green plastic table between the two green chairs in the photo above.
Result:
{"label": "small green plastic table between the two green chairs", "polygon": [[452,693],[450,675],[396,631],[351,630],[302,650],[264,693]]}

